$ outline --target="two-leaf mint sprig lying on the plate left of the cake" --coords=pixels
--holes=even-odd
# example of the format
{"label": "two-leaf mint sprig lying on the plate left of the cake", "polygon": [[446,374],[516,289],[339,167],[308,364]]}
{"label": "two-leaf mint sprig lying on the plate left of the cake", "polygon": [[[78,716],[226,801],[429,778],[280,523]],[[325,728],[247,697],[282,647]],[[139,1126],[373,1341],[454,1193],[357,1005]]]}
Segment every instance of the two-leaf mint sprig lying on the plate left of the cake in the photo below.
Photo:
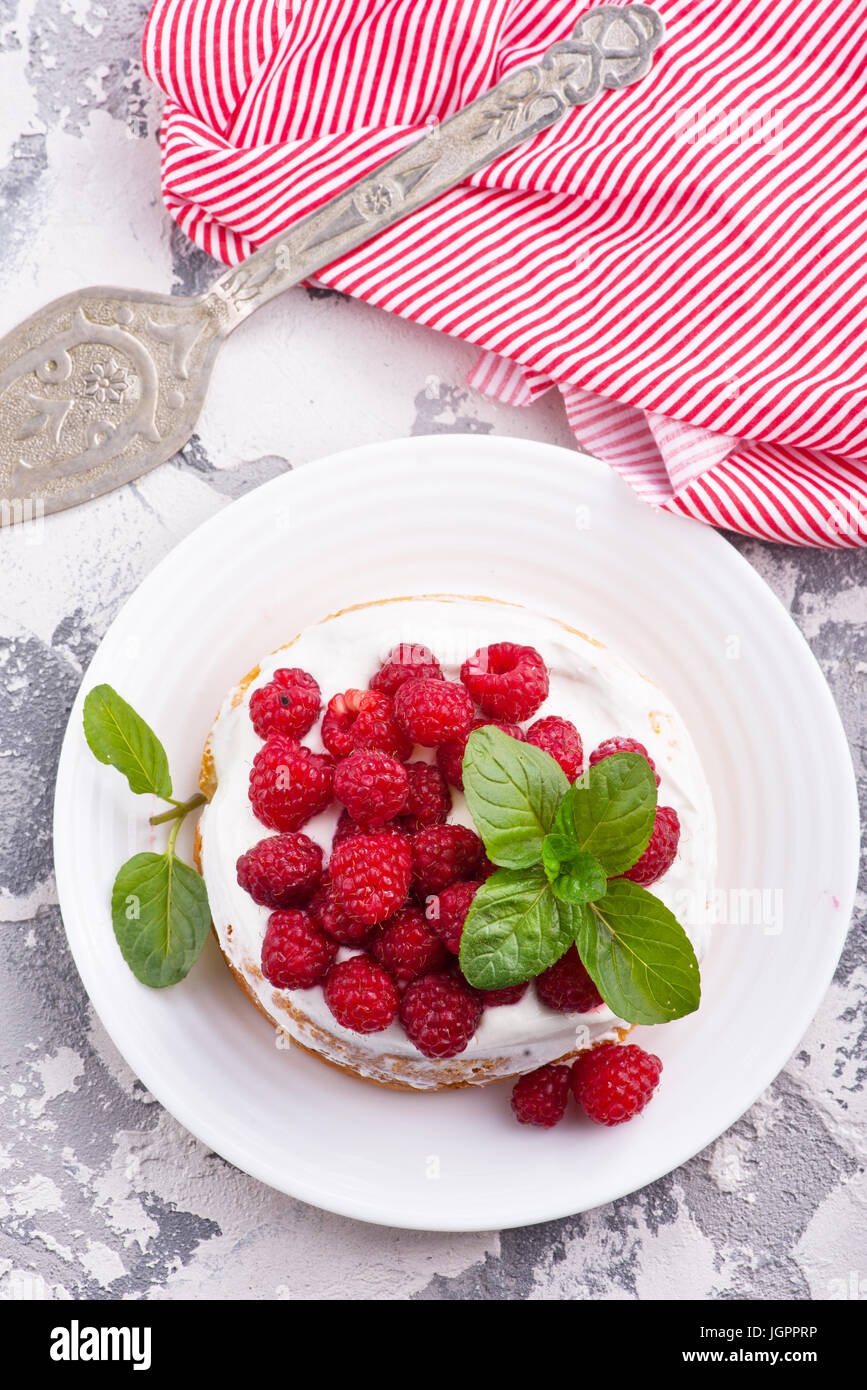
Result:
{"label": "two-leaf mint sprig lying on the plate left of the cake", "polygon": [[126,965],[142,984],[161,990],[189,973],[211,924],[201,874],[175,853],[183,820],[207,798],[203,792],[183,802],[172,798],[163,744],[111,685],[88,692],[83,724],[88,746],[100,763],[117,767],[133,792],[170,805],[150,817],[151,826],[171,823],[164,853],[133,855],[118,870],[111,891],[111,923]]}

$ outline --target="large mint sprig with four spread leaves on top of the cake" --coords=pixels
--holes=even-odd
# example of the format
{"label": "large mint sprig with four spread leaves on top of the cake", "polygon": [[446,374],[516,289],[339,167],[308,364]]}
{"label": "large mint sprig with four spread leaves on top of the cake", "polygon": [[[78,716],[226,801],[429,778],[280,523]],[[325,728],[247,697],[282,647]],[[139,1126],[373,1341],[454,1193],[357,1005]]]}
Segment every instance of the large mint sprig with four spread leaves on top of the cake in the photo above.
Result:
{"label": "large mint sprig with four spread leaves on top of the cake", "polygon": [[699,966],[677,917],[620,877],[643,855],[656,780],[639,753],[602,759],[571,787],[554,759],[502,730],[467,741],[467,805],[502,867],[478,890],[460,962],[470,984],[532,979],[575,942],[609,1008],[666,1023],[699,1006]]}

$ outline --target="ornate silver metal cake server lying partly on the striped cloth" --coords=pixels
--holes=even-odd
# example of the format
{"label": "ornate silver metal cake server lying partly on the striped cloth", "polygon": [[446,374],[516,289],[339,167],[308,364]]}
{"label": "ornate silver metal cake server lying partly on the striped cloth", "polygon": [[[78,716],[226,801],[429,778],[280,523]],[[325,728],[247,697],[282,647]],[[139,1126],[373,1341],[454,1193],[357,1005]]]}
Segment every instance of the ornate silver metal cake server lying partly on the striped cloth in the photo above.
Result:
{"label": "ornate silver metal cake server lying partly on the striped cloth", "polygon": [[0,339],[0,500],[60,512],[138,478],[195,430],[217,353],[275,295],[439,197],[603,88],[650,70],[663,21],[602,4],[367,178],[225,271],[206,295],[103,285],[46,304]]}

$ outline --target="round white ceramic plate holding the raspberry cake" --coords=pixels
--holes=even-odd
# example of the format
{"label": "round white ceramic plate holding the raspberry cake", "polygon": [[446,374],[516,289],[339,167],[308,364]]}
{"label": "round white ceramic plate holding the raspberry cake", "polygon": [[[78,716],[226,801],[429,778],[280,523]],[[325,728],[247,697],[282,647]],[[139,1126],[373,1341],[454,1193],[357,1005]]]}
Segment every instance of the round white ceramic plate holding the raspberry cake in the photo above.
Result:
{"label": "round white ceramic plate holding the raspberry cake", "polygon": [[[132,701],[188,795],[224,692],[263,653],[349,603],[424,592],[522,602],[610,642],[674,698],[703,758],[720,821],[720,885],[748,920],[716,930],[699,1013],[634,1034],[663,1056],[664,1079],[628,1126],[607,1130],[577,1113],[552,1131],[518,1126],[507,1086],[413,1095],[363,1084],[278,1049],[213,942],[189,979],[165,991],[138,984],[118,952],[114,872],[161,838],[146,824],[147,799],[89,753],[83,694],[110,681]],[[60,760],[54,834],[78,969],[157,1099],[203,1143],[293,1197],[429,1230],[518,1226],[596,1207],[677,1168],[732,1125],[823,998],[859,853],[836,709],[807,645],[749,564],[709,528],[653,513],[591,459],[467,435],[310,464],[178,545],[129,599],[85,677]]]}

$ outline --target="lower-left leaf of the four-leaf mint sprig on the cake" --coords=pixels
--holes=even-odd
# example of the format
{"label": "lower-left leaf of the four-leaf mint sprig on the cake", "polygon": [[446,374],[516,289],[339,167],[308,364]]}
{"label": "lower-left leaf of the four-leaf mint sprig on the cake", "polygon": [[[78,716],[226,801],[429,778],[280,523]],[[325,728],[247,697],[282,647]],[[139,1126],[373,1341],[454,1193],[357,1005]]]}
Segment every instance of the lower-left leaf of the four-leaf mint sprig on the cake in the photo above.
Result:
{"label": "lower-left leaf of the four-leaf mint sprig on the cake", "polygon": [[[503,737],[509,737],[507,734]],[[572,944],[545,870],[497,869],[482,884],[464,923],[460,963],[478,990],[502,990],[540,974]]]}

